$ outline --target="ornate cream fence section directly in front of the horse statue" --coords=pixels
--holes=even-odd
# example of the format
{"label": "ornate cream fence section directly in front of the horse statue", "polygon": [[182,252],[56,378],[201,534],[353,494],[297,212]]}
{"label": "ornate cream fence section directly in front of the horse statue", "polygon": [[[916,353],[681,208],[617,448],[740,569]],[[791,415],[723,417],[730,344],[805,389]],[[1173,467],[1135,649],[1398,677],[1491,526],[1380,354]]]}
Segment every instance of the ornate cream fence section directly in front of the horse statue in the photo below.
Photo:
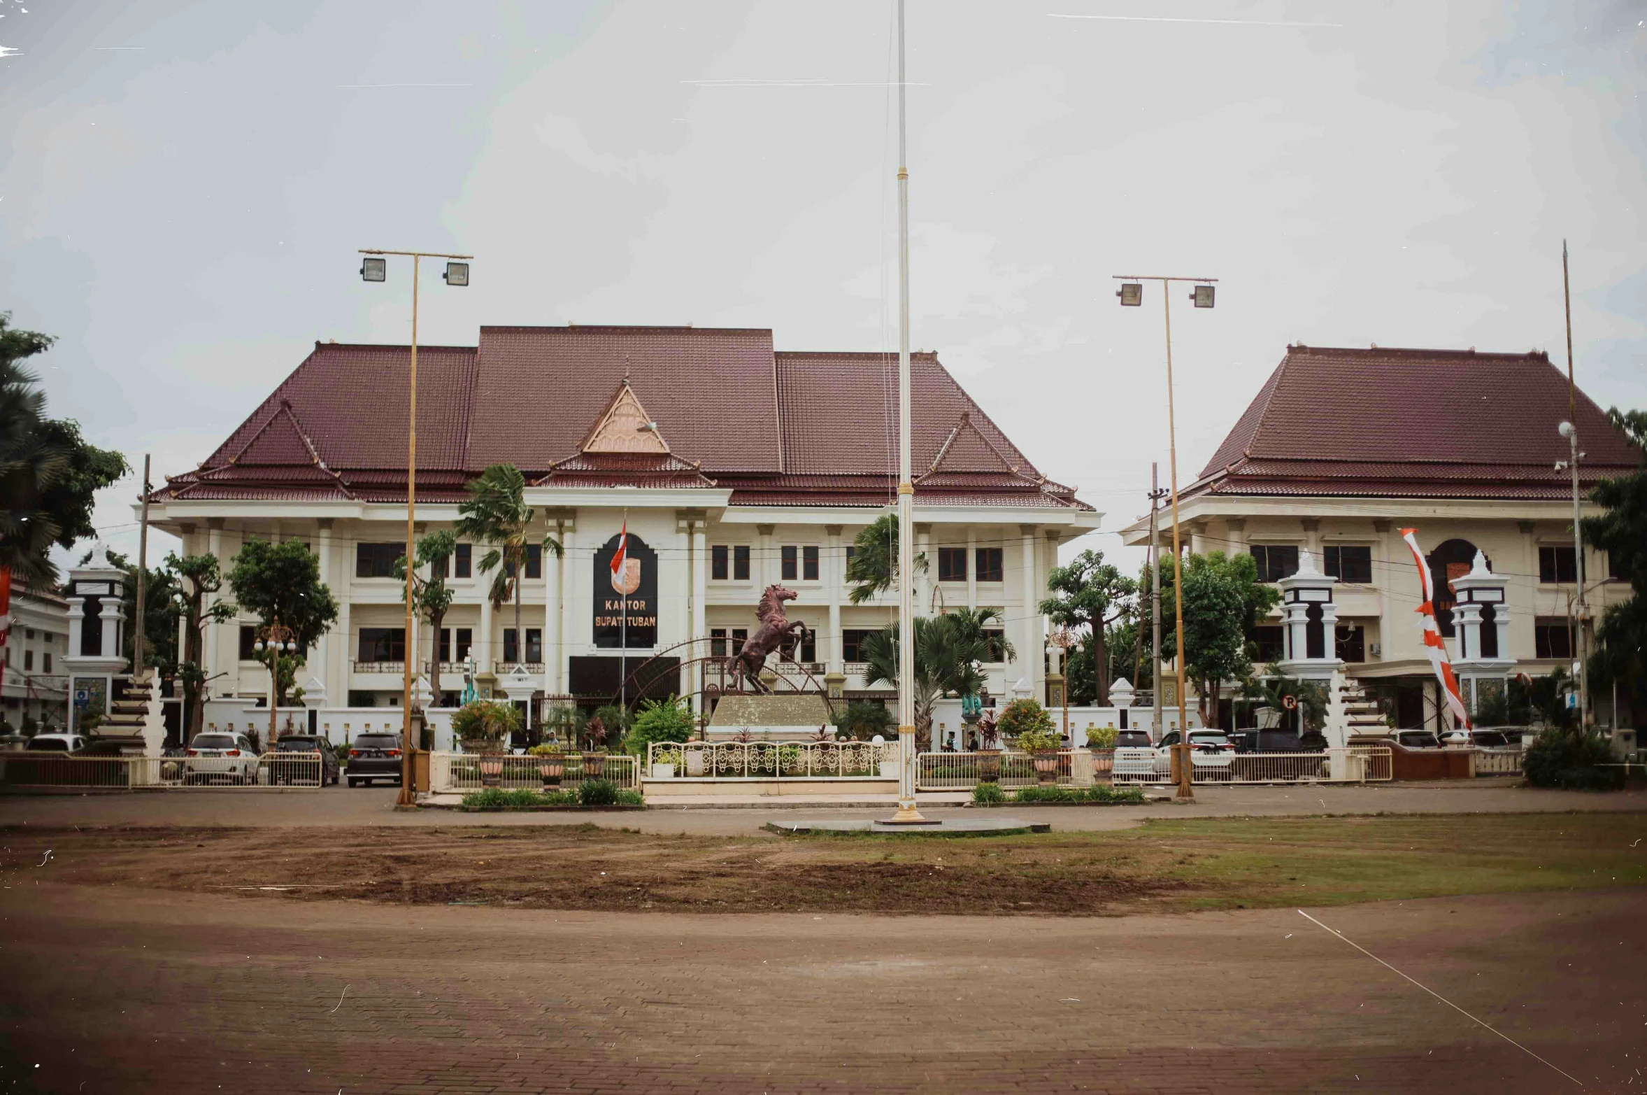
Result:
{"label": "ornate cream fence section directly in front of the horse statue", "polygon": [[664,741],[647,748],[646,771],[654,779],[873,779],[896,776],[896,741]]}

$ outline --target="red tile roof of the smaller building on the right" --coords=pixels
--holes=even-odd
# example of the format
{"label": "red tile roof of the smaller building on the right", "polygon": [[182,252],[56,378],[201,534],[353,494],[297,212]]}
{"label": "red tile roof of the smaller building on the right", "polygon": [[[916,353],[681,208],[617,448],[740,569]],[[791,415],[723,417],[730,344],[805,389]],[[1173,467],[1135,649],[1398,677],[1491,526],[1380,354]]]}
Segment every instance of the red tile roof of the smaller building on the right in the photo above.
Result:
{"label": "red tile roof of the smaller building on the right", "polygon": [[[1566,375],[1547,354],[1288,346],[1184,494],[1561,499]],[[1640,453],[1583,392],[1581,479]]]}

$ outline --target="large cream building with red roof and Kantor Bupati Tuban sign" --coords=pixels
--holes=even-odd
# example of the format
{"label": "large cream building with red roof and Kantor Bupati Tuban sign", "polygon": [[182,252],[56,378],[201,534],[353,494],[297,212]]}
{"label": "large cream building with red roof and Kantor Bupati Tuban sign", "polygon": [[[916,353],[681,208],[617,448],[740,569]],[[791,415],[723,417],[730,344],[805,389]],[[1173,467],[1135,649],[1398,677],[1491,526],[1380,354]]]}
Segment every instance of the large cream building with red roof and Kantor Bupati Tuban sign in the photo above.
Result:
{"label": "large cream building with red roof and Kantor Bupati Tuban sign", "polygon": [[[399,701],[408,649],[427,670],[436,645],[443,690],[473,660],[506,683],[522,667],[539,695],[604,700],[652,655],[667,669],[731,652],[771,583],[800,594],[789,616],[815,632],[784,672],[848,697],[884,692],[865,685],[858,644],[896,603],[850,604],[845,565],[855,534],[896,497],[896,356],[786,352],[768,329],[720,328],[484,326],[474,346],[420,346],[417,520],[450,525],[464,484],[507,463],[525,474],[539,535],[567,550],[529,558],[516,634],[512,609],[484,596],[484,548],[461,547],[443,634],[425,626],[410,642],[390,576],[405,537],[408,366],[407,346],[316,342],[198,469],[153,496],[152,520],[186,552],[229,563],[247,537],[298,537],[320,553],[341,619],[308,659],[311,701]],[[914,354],[911,370],[916,547],[929,560],[916,601],[1001,609],[1018,660],[991,667],[991,690],[1039,693],[1034,603],[1057,545],[1099,514],[1036,469],[937,354]],[[603,568],[626,519],[642,576],[618,649],[606,608],[621,599]],[[250,624],[208,637],[219,697],[267,690]],[[702,683],[690,670],[654,677],[654,692]]]}

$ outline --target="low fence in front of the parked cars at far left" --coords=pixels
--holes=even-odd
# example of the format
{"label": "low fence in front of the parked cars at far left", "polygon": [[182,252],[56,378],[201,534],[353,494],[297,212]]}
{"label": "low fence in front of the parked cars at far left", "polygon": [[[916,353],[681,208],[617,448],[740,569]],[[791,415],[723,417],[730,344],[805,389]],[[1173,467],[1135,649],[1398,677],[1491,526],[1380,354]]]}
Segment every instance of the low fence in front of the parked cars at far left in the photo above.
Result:
{"label": "low fence in front of the parked cars at far left", "polygon": [[318,753],[208,757],[79,757],[0,753],[0,787],[81,790],[320,789],[326,769]]}

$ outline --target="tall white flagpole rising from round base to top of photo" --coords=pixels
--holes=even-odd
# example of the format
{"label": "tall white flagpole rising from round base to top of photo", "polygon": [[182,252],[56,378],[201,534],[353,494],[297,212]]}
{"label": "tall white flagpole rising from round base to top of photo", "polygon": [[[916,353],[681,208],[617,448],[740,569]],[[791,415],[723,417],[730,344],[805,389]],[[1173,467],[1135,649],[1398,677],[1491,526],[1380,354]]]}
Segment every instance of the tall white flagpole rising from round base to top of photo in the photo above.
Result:
{"label": "tall white flagpole rising from round base to top of photo", "polygon": [[901,825],[921,823],[916,812],[916,614],[914,494],[909,469],[909,168],[904,140],[904,0],[898,0],[898,813]]}

